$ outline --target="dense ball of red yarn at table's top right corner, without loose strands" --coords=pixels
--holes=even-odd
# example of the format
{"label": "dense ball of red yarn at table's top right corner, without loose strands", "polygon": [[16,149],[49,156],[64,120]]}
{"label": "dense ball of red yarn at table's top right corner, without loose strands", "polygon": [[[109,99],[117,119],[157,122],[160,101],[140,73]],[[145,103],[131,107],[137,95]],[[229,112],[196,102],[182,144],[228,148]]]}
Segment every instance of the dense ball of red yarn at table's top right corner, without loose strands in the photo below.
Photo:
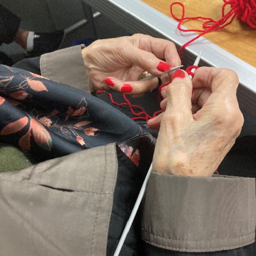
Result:
{"label": "dense ball of red yarn at table's top right corner, without loose strands", "polygon": [[[224,2],[229,1],[224,0]],[[234,0],[234,3],[231,3],[230,6],[234,8],[238,19],[256,28],[256,0]]]}

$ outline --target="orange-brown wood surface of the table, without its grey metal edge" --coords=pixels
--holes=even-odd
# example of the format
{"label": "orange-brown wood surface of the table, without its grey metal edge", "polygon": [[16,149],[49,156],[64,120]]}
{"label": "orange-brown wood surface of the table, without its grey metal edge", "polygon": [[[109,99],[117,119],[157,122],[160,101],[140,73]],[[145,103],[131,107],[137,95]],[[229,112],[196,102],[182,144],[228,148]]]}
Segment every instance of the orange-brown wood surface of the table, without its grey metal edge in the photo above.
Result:
{"label": "orange-brown wood surface of the table, without its grey metal edge", "polygon": [[[142,1],[162,12],[167,17],[173,18],[170,14],[170,5],[175,2],[175,0]],[[185,17],[203,16],[215,20],[221,18],[222,0],[180,0],[180,2],[183,3],[185,7]],[[227,6],[226,11],[228,12],[229,9],[229,6]],[[173,12],[176,17],[181,17],[181,6],[174,5]],[[202,29],[201,20],[186,21],[184,25],[190,29]],[[205,34],[204,38],[256,67],[256,29],[241,22],[241,20],[235,18],[229,26],[222,30]]]}

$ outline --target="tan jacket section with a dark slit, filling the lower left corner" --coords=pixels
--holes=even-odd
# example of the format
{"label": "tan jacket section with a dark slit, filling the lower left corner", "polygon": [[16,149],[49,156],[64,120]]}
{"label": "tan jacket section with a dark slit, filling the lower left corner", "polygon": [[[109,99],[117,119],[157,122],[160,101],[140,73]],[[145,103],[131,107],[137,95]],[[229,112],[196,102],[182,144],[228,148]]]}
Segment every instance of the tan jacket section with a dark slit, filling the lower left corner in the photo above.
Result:
{"label": "tan jacket section with a dark slit, filling the lower left corner", "polygon": [[0,255],[106,256],[117,170],[109,144],[1,173]]}

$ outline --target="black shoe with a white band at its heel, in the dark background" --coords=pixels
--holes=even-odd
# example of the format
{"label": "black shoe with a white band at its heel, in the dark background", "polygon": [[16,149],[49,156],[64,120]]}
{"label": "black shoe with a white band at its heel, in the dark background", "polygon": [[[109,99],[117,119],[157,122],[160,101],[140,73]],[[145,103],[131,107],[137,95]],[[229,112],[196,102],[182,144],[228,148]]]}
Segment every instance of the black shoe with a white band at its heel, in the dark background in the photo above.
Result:
{"label": "black shoe with a white band at its heel, in the dark background", "polygon": [[29,32],[26,57],[36,57],[54,52],[61,46],[63,40],[64,30],[57,30],[52,33]]}

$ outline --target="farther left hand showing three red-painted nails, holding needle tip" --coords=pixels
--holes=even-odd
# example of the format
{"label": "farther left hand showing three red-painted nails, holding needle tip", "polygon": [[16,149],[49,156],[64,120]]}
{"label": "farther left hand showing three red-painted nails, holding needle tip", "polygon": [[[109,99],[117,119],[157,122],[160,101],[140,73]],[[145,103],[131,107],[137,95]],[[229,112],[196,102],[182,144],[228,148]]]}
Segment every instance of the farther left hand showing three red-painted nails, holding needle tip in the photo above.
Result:
{"label": "farther left hand showing three red-painted nails, holding needle tip", "polygon": [[142,34],[97,40],[82,50],[82,57],[91,91],[113,89],[133,95],[158,86],[157,78],[137,81],[143,71],[161,76],[181,64],[174,43]]}

